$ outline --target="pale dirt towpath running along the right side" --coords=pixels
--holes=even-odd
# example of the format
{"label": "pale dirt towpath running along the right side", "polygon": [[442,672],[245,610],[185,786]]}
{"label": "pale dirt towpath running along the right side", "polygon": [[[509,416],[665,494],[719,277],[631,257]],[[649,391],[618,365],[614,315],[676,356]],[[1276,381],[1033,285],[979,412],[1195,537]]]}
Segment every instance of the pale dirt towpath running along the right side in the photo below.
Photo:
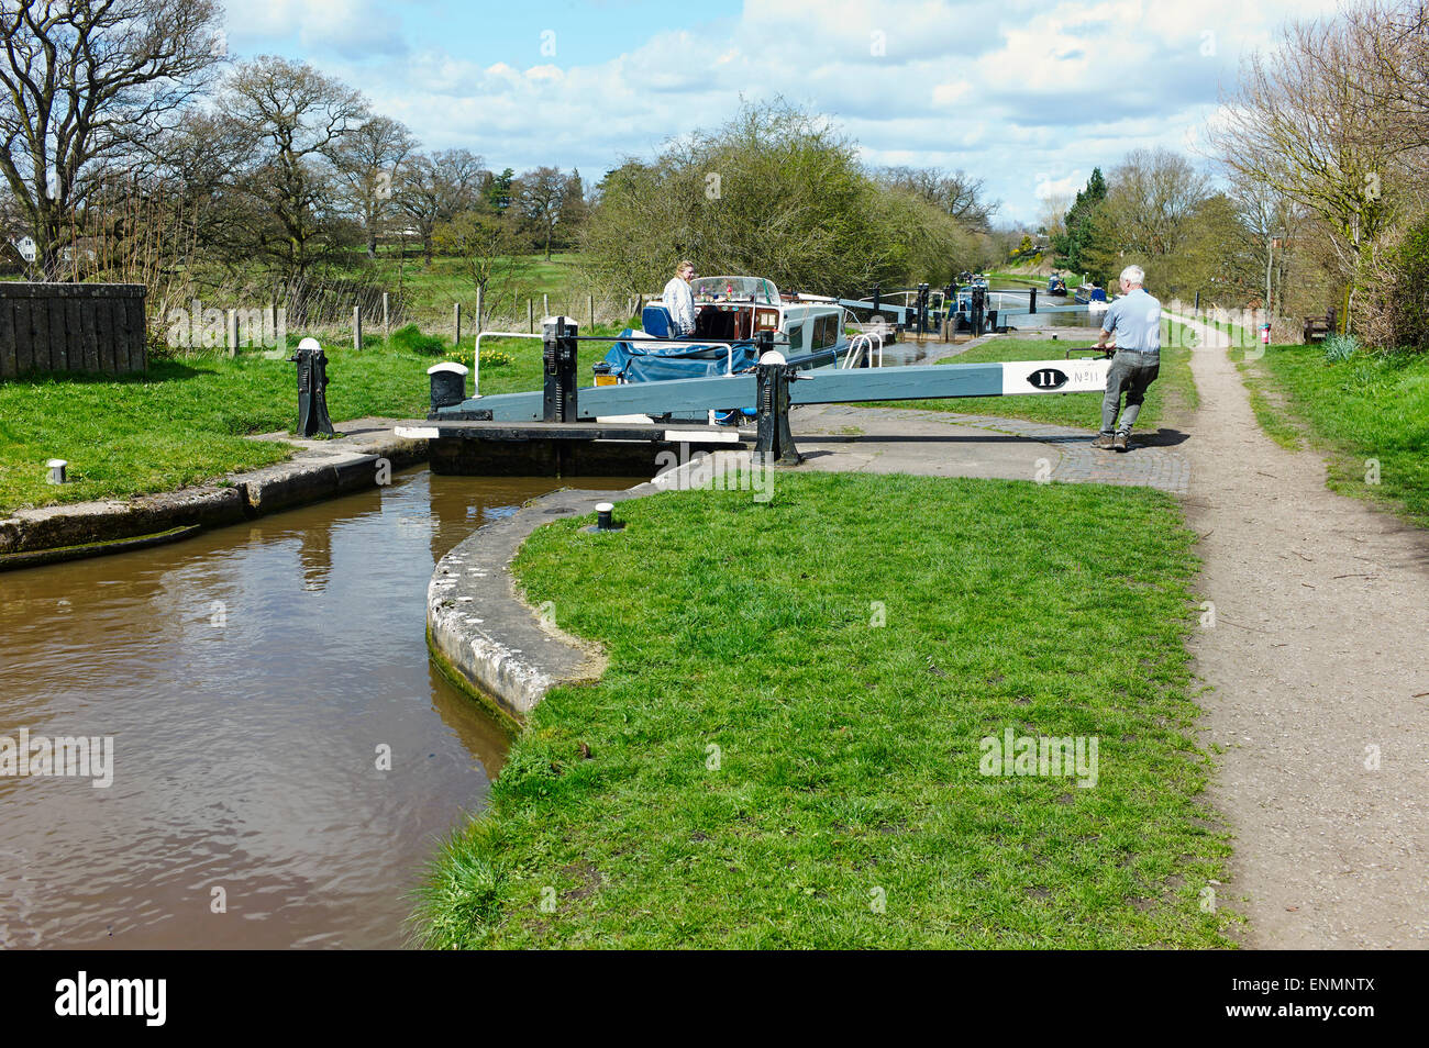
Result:
{"label": "pale dirt towpath running along the right side", "polygon": [[1225,336],[1200,333],[1219,346],[1192,354],[1186,505],[1216,615],[1192,638],[1225,750],[1213,800],[1236,834],[1219,901],[1250,947],[1423,948],[1429,538],[1273,444]]}

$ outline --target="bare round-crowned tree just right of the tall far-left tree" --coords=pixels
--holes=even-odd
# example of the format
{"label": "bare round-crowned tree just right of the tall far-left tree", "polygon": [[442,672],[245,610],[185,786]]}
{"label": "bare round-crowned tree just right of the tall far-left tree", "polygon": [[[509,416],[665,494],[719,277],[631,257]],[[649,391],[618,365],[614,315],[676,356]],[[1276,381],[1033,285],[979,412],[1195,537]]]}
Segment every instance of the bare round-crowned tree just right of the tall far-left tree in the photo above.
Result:
{"label": "bare round-crowned tree just right of the tall far-left tree", "polygon": [[333,160],[367,119],[367,103],[306,63],[263,56],[229,77],[219,111],[254,150],[242,184],[267,217],[257,250],[302,277],[314,248],[332,240]]}

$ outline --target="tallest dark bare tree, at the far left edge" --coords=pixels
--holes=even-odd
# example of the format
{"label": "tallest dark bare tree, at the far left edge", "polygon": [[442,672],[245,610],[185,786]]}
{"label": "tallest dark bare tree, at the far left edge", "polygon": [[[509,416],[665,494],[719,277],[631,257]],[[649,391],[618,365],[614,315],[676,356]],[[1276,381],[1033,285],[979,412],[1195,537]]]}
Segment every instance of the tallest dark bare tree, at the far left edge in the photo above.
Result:
{"label": "tallest dark bare tree, at the far left edge", "polygon": [[97,161],[144,147],[223,57],[211,0],[0,0],[0,171],[54,273]]}

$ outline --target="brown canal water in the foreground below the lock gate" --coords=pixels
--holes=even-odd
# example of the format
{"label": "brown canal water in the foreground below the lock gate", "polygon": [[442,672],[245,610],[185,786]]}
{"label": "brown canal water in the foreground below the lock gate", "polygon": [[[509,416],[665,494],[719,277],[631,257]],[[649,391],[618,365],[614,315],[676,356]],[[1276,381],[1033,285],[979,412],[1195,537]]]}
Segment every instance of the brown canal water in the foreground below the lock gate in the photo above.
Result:
{"label": "brown canal water in the foreground below the lock gate", "polygon": [[0,775],[0,947],[403,945],[507,747],[427,658],[432,568],[529,498],[624,484],[410,471],[0,574],[0,747],[113,738],[107,788],[100,761]]}

